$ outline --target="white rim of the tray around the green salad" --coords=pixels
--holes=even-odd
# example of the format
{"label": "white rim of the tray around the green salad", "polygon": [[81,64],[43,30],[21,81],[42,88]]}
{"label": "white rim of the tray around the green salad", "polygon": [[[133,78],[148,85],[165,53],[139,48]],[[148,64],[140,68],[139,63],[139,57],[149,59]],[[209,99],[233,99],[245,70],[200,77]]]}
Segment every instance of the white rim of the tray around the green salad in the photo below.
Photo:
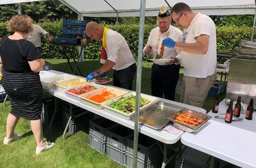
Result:
{"label": "white rim of the tray around the green salad", "polygon": [[[128,97],[128,96],[130,96],[130,95],[136,95],[136,92],[133,91],[133,92],[131,92],[131,93],[128,93],[128,94],[126,94],[126,95],[123,95],[122,97]],[[118,97],[117,99],[113,99],[113,100],[111,100],[111,101],[108,101],[108,102],[106,102],[106,103],[103,103],[102,106],[103,106],[103,108],[104,108],[104,110],[105,110],[106,112],[109,112],[109,113],[114,114],[114,115],[116,115],[116,116],[119,116],[119,117],[121,117],[121,118],[125,118],[126,120],[130,120],[130,117],[135,114],[135,110],[133,110],[133,112],[131,112],[131,113],[129,113],[129,114],[126,114],[125,112],[121,112],[121,111],[119,111],[119,110],[115,110],[114,108],[108,107],[108,105],[109,105],[110,103],[113,103],[113,102],[115,102],[115,101],[118,101],[118,100],[121,99],[122,97]],[[142,97],[143,99],[148,99],[148,100],[150,101],[150,103],[146,104],[145,106],[142,106],[142,107],[140,108],[140,110],[143,110],[144,108],[147,108],[148,106],[151,106],[152,103],[154,103],[154,101],[157,101],[157,100],[159,99],[158,97],[154,97],[154,96],[152,96],[152,95],[146,95],[146,94],[143,94],[143,93],[141,93],[141,97]]]}

